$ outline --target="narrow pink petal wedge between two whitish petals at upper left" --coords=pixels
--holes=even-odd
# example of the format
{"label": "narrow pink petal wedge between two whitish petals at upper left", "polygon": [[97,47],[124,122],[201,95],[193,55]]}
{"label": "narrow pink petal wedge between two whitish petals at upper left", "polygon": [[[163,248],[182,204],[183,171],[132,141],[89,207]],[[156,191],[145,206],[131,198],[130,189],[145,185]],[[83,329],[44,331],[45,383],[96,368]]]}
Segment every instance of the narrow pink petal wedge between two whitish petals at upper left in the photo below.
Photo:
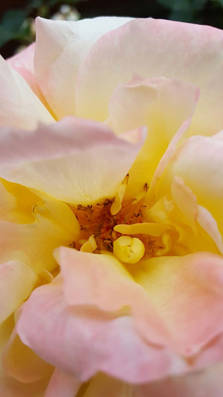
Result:
{"label": "narrow pink petal wedge between two whitish petals at upper left", "polygon": [[6,62],[12,66],[29,84],[30,88],[38,96],[45,107],[48,108],[48,104],[40,90],[37,83],[35,72],[34,72],[34,54],[35,54],[36,43],[30,44],[25,50],[19,54],[8,58]]}

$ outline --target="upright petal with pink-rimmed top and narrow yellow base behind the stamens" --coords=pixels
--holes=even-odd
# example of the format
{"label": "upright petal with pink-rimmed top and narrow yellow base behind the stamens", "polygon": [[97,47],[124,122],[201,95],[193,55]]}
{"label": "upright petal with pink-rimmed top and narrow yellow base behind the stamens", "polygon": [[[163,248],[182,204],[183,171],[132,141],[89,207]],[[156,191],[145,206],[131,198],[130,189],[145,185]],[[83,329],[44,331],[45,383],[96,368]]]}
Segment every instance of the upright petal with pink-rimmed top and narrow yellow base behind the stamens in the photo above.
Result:
{"label": "upright petal with pink-rimmed top and narrow yellow base behind the stamens", "polygon": [[[134,194],[150,185],[155,169],[182,123],[194,112],[199,90],[192,84],[163,77],[144,79],[133,75],[119,84],[109,103],[107,124],[116,132],[147,126],[147,139],[134,162],[127,191]],[[133,190],[133,192],[132,192]]]}

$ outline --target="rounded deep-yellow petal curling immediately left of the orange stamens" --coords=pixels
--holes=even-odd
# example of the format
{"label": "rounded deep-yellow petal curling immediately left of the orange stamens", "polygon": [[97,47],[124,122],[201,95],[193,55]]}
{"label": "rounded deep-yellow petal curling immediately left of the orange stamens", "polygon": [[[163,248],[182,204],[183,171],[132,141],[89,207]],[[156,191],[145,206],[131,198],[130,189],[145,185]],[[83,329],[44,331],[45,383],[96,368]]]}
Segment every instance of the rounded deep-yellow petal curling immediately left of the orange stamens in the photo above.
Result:
{"label": "rounded deep-yellow petal curling immediately left of the orange stamens", "polygon": [[[30,223],[0,220],[0,261],[25,261],[37,273],[56,266],[53,251],[79,236],[79,224],[71,209],[61,201],[44,196],[33,206]],[[5,291],[6,292],[6,291]]]}

